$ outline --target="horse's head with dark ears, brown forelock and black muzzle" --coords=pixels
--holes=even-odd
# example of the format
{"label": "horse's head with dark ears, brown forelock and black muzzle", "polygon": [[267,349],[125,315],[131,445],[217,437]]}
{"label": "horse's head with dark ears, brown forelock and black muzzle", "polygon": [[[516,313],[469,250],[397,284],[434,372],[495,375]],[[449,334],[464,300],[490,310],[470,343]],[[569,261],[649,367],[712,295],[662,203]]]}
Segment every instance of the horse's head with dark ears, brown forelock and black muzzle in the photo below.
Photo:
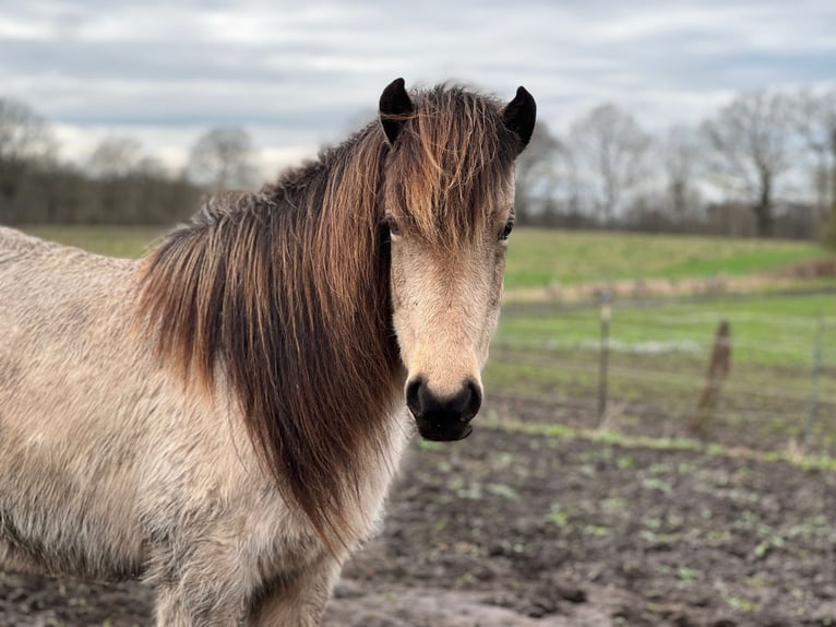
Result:
{"label": "horse's head with dark ears, brown forelock and black muzzle", "polygon": [[426,439],[467,437],[481,405],[514,226],[513,162],[535,117],[523,87],[505,105],[455,88],[414,102],[403,79],[381,96],[392,320]]}

